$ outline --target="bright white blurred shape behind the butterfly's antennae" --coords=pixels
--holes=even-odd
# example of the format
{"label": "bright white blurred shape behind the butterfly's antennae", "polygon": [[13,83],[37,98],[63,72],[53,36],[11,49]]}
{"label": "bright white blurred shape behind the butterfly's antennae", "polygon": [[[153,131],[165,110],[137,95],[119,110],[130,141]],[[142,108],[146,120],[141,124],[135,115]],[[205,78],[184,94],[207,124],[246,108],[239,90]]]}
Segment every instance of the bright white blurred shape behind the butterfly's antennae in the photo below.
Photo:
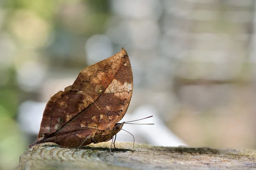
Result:
{"label": "bright white blurred shape behind the butterfly's antennae", "polygon": [[[124,125],[123,129],[129,131],[135,136],[135,142],[137,142],[136,136],[140,136],[147,139],[148,143],[152,145],[169,147],[187,146],[185,142],[183,142],[171,130],[169,130],[168,127],[166,127],[164,122],[158,116],[157,109],[152,105],[140,106],[132,115],[126,114],[122,120],[127,122],[130,120],[142,119],[148,116],[153,117],[134,123],[154,123],[155,125]],[[124,141],[122,136],[129,136],[129,134],[121,130],[117,134],[119,141]],[[132,139],[130,136],[129,138]]]}

